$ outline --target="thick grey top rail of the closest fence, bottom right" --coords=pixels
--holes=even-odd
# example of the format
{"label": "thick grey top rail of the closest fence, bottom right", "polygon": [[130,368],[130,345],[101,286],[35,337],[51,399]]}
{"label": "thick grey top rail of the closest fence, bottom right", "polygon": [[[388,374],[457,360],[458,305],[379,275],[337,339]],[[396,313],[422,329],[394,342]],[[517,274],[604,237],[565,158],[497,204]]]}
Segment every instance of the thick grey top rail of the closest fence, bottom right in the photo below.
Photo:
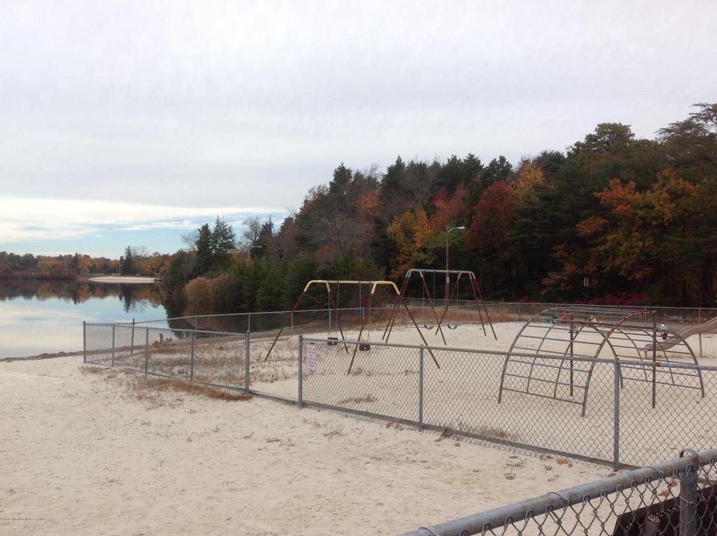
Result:
{"label": "thick grey top rail of the closest fence, bottom right", "polygon": [[[685,453],[685,451],[682,453]],[[641,469],[627,471],[623,474],[563,489],[560,492],[549,492],[540,497],[508,504],[507,506],[488,510],[488,512],[473,514],[454,521],[441,523],[440,525],[433,525],[429,529],[421,527],[418,530],[406,532],[402,536],[470,536],[485,532],[491,528],[500,528],[508,524],[522,522],[525,519],[547,512],[559,511],[573,504],[605,497],[622,489],[631,489],[635,486],[648,484],[665,476],[676,476],[680,472],[687,470],[688,467],[692,468],[693,471],[698,471],[699,467],[716,464],[716,459],[717,448],[712,448],[696,453],[696,456],[688,454],[687,456],[663,461],[655,466],[646,466]]]}

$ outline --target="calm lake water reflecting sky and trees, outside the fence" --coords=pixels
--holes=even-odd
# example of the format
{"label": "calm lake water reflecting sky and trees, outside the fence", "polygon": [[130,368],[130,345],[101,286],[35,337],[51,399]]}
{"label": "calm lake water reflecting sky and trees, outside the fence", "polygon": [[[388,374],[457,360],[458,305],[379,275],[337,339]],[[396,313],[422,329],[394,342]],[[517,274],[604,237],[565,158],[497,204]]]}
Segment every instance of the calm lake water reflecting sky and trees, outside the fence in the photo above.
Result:
{"label": "calm lake water reflecting sky and trees, outside the fence", "polygon": [[0,357],[77,352],[82,349],[82,321],[167,316],[158,289],[151,285],[0,280]]}

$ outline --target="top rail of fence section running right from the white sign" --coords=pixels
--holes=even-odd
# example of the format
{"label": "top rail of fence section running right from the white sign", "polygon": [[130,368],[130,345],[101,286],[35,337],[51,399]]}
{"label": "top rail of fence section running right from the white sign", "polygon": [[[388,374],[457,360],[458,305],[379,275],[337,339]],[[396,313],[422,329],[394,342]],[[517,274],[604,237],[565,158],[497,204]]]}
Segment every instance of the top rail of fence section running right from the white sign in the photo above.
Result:
{"label": "top rail of fence section running right from the white sign", "polygon": [[[322,339],[316,337],[305,337],[300,336],[303,342],[310,343],[335,343],[335,339]],[[549,354],[534,354],[528,352],[508,352],[508,350],[483,350],[476,348],[455,348],[455,347],[443,347],[443,346],[424,346],[422,344],[398,344],[394,342],[373,342],[373,341],[357,341],[351,339],[345,339],[342,341],[346,344],[355,346],[356,344],[371,344],[371,346],[377,347],[389,347],[389,348],[407,348],[407,349],[421,349],[430,350],[431,352],[461,352],[464,354],[488,354],[488,355],[500,355],[507,357],[510,354],[511,357],[527,357],[528,359],[548,359],[551,361],[574,361],[574,362],[588,362],[588,363],[606,363],[614,365],[617,362],[618,365],[632,365],[640,367],[652,367],[656,369],[691,369],[691,370],[708,370],[717,371],[717,365],[695,365],[694,363],[681,363],[676,361],[656,361],[652,362],[652,359],[607,359],[604,357],[584,357],[584,356],[569,356],[565,354],[560,355],[549,355]],[[537,364],[539,365],[539,364]]]}

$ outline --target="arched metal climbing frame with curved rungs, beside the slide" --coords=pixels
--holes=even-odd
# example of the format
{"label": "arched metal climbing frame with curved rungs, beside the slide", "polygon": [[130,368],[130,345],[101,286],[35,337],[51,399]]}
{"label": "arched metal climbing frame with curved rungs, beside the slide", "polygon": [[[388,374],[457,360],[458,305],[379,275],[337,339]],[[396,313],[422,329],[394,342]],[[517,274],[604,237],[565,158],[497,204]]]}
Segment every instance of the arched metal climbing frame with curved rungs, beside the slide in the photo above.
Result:
{"label": "arched metal climbing frame with curved rungs, beside the slide", "polygon": [[[716,320],[701,324],[701,329]],[[704,398],[700,370],[670,367],[671,362],[697,364],[685,342],[697,327],[670,332],[667,340],[658,342],[657,311],[602,306],[545,309],[528,320],[513,340],[503,363],[498,403],[506,391],[521,392],[581,405],[585,416],[592,372],[606,346],[618,363],[620,387],[627,381],[650,384],[652,408],[657,403],[657,385],[699,390]]]}

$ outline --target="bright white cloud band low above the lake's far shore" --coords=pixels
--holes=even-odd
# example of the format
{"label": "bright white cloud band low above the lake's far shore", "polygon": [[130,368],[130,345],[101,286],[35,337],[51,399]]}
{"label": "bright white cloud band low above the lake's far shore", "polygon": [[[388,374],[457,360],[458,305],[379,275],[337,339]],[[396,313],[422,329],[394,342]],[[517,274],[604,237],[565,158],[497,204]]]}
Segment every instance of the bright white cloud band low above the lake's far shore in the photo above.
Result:
{"label": "bright white cloud band low above the lake's far shore", "polygon": [[102,230],[189,230],[196,218],[282,212],[265,207],[171,207],[158,204],[0,197],[0,242],[84,238]]}

